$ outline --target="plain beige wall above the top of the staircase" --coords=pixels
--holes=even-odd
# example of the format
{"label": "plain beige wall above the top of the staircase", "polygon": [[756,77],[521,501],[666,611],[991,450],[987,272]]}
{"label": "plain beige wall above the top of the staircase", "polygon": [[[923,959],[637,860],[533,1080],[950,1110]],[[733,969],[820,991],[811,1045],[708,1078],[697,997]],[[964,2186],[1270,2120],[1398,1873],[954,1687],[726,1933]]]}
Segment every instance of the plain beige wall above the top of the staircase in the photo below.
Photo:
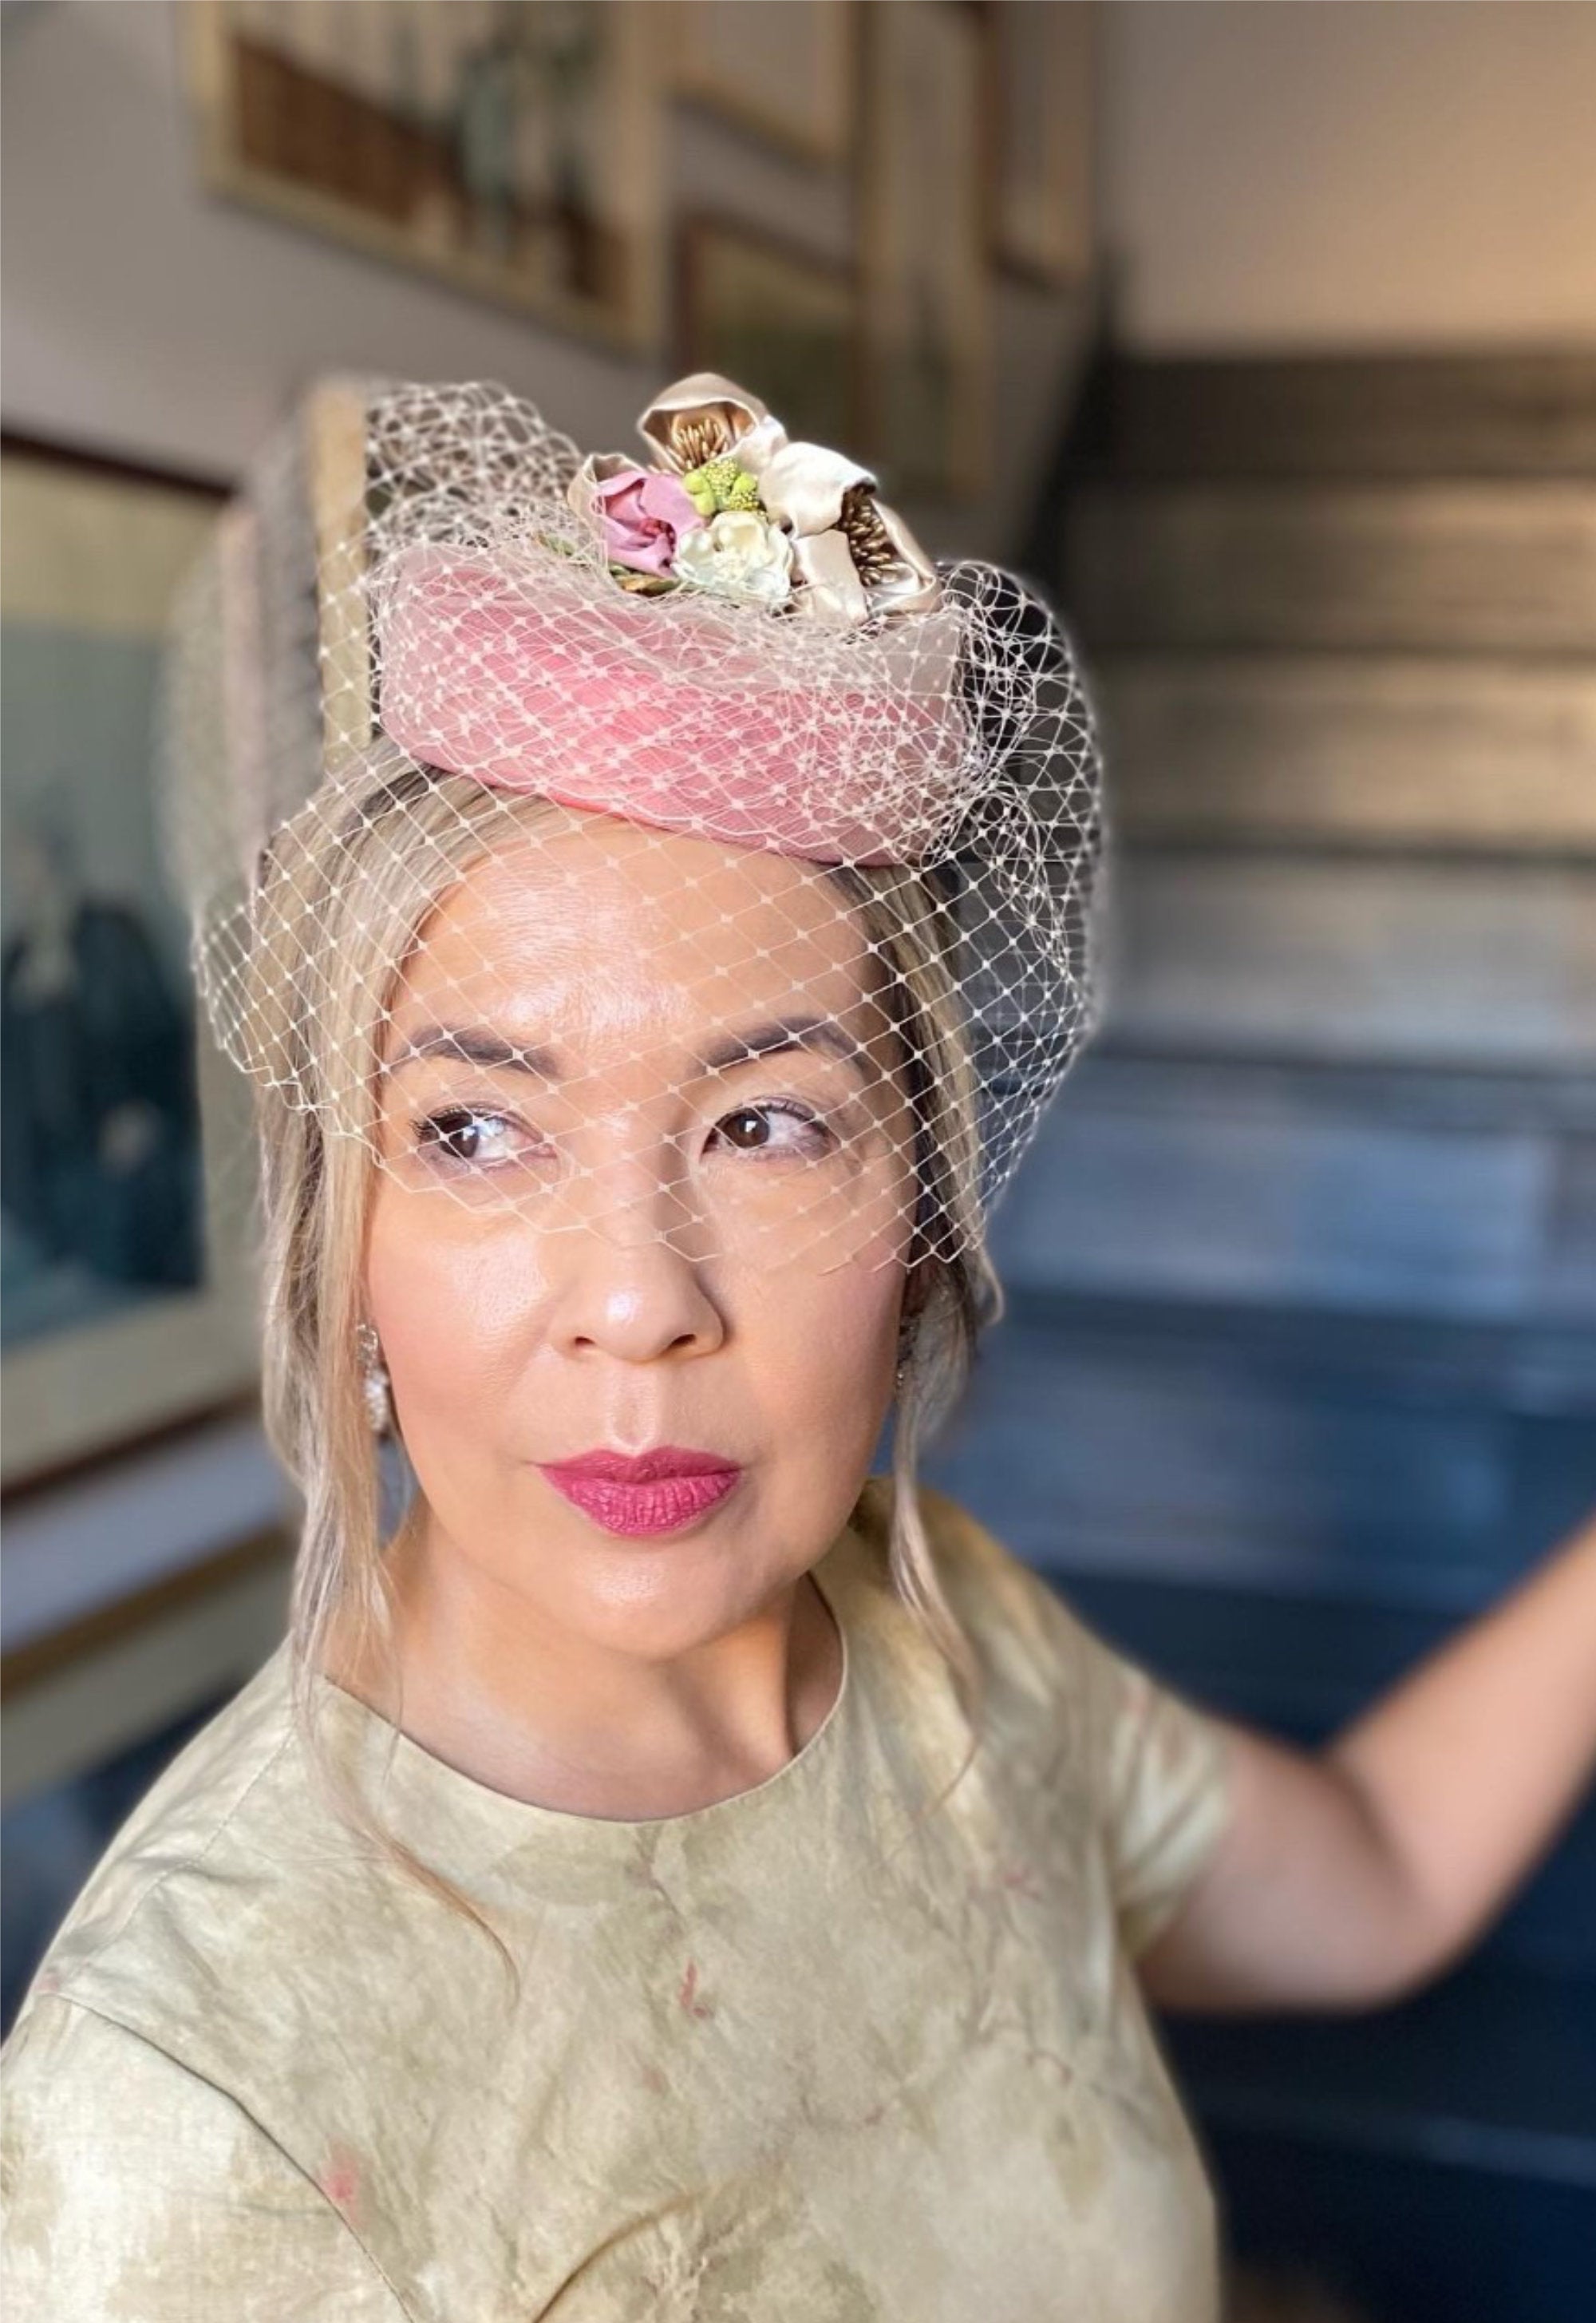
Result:
{"label": "plain beige wall above the top of the staircase", "polygon": [[1145,351],[1596,335],[1594,0],[1108,0],[1101,125]]}

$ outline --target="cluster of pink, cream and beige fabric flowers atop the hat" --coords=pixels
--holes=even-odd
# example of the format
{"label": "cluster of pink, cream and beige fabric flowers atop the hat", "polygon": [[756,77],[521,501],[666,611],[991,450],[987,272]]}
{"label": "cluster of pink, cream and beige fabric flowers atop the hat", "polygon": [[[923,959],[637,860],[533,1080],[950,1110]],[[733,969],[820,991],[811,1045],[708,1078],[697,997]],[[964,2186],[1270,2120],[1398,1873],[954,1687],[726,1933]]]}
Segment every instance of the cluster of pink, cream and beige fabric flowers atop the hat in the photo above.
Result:
{"label": "cluster of pink, cream and beige fabric flowers atop the hat", "polygon": [[839,630],[941,604],[936,567],[871,472],[788,441],[729,379],[678,379],[639,432],[655,467],[592,453],[567,495],[620,588],[709,590]]}

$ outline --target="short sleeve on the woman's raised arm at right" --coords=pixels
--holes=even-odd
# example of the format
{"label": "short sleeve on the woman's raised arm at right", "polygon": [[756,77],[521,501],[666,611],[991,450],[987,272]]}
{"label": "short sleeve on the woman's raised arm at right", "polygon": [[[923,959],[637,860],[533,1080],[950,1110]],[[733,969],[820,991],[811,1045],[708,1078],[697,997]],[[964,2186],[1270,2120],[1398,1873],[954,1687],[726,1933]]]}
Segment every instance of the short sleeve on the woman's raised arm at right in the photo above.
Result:
{"label": "short sleeve on the woman's raised arm at right", "polygon": [[987,1661],[1080,1735],[1124,1949],[1169,1926],[1229,1819],[1229,1747],[1199,1710],[1115,1652],[1059,1591],[946,1494],[920,1505],[959,1619]]}

